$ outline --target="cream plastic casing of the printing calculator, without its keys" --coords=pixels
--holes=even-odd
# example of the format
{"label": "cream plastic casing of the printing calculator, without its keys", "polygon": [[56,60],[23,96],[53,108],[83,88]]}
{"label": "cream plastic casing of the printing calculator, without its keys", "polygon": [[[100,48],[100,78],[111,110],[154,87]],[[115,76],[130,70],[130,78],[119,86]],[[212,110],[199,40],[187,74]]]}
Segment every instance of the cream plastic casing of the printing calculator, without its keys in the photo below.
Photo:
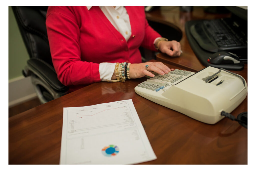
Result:
{"label": "cream plastic casing of the printing calculator, without its keys", "polygon": [[218,71],[217,68],[207,67],[161,94],[142,96],[198,121],[215,124],[224,118],[220,114],[222,111],[231,113],[247,96],[247,83],[243,77],[244,82],[241,80],[241,76],[221,71],[218,78],[210,83],[202,80]]}

